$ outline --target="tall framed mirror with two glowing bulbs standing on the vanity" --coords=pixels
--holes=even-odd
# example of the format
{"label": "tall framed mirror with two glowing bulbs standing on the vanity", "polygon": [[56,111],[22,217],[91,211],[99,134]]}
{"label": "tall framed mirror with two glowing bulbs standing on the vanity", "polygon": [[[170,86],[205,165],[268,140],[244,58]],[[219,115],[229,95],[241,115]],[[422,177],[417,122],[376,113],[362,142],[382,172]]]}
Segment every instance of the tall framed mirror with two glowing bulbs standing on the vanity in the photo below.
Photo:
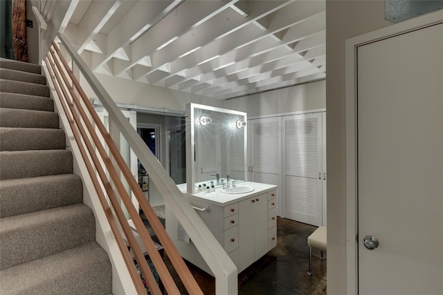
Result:
{"label": "tall framed mirror with two glowing bulbs standing on the vanity", "polygon": [[188,193],[246,181],[246,113],[202,104],[186,111]]}

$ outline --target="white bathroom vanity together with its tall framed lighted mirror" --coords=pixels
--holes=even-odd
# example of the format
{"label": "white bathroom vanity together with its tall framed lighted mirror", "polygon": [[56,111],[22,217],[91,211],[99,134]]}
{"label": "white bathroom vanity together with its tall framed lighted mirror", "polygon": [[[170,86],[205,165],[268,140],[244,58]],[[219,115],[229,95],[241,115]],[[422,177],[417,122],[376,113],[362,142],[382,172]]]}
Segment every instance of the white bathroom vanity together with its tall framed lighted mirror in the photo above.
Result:
{"label": "white bathroom vanity together with its tall framed lighted mirror", "polygon": [[[178,187],[242,272],[277,245],[276,186],[247,181],[246,113],[188,104],[186,118],[186,183]],[[214,275],[168,204],[165,213],[181,256]]]}

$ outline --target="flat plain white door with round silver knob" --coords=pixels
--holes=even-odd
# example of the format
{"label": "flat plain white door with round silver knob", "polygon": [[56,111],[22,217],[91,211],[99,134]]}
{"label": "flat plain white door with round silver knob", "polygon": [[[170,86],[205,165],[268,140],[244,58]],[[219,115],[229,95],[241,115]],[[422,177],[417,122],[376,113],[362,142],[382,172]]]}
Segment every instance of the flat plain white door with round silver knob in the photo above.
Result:
{"label": "flat plain white door with round silver knob", "polygon": [[357,50],[359,294],[443,294],[443,24]]}

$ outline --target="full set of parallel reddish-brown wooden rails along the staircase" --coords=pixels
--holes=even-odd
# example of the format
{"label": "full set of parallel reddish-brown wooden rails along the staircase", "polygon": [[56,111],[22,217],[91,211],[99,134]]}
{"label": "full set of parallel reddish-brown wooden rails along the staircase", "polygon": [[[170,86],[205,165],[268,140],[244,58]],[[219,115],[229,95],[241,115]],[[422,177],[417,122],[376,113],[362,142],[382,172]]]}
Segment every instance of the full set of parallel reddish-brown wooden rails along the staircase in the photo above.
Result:
{"label": "full set of parallel reddish-brown wooden rails along the staircase", "polygon": [[[145,290],[143,288],[142,292],[141,287],[143,287],[143,285],[141,285],[140,277],[138,276],[138,272],[136,271],[132,258],[129,255],[129,251],[125,246],[125,241],[123,240],[123,236],[121,236],[120,230],[116,225],[114,213],[109,207],[105,194],[102,191],[102,187],[100,187],[100,183],[98,182],[96,173],[98,173],[98,175],[100,176],[100,180],[102,180],[102,186],[105,188],[107,192],[109,201],[111,202],[111,205],[115,211],[120,226],[122,227],[123,232],[129,242],[129,245],[132,248],[137,263],[141,267],[141,272],[147,280],[147,285],[150,288],[150,292],[152,292],[152,294],[161,294],[160,289],[156,284],[156,280],[150,270],[150,267],[149,265],[147,265],[147,262],[143,256],[143,252],[141,251],[141,248],[137,243],[137,240],[132,232],[132,229],[129,227],[127,219],[125,218],[125,215],[123,213],[123,209],[120,207],[118,198],[116,196],[116,193],[114,192],[114,188],[116,189],[118,196],[120,196],[121,200],[125,204],[125,208],[127,209],[130,218],[132,218],[136,230],[138,231],[138,234],[141,236],[143,245],[147,249],[147,252],[152,260],[152,263],[156,268],[156,272],[158,272],[162,280],[162,283],[165,285],[166,291],[168,292],[168,294],[179,294],[177,285],[174,283],[174,280],[172,279],[172,276],[170,275],[168,268],[165,266],[165,263],[161,258],[159,252],[157,251],[156,246],[154,245],[154,242],[152,241],[150,234],[147,232],[147,229],[145,228],[143,221],[138,215],[138,211],[136,211],[136,209],[134,208],[131,198],[129,197],[129,194],[127,193],[125,187],[123,186],[123,183],[120,180],[120,176],[118,171],[116,170],[116,167],[114,166],[114,164],[112,164],[111,159],[109,158],[107,152],[105,151],[105,148],[102,146],[100,139],[98,138],[98,135],[96,134],[90,120],[88,119],[88,115],[84,111],[80,99],[76,95],[73,88],[70,86],[71,83],[73,84],[73,86],[75,86],[75,89],[78,91],[78,94],[82,98],[84,107],[87,108],[89,115],[92,117],[93,122],[96,124],[96,127],[100,131],[103,139],[105,140],[109,148],[109,151],[111,151],[111,154],[113,155],[114,161],[118,165],[120,171],[125,176],[125,179],[127,180],[127,183],[129,184],[129,187],[132,189],[134,195],[138,199],[138,202],[141,204],[141,208],[145,212],[148,221],[150,222],[150,225],[154,229],[161,244],[163,245],[166,254],[168,254],[168,258],[170,258],[172,265],[177,271],[177,274],[179,274],[179,277],[181,278],[183,285],[185,285],[186,289],[188,289],[188,292],[190,294],[203,294],[201,292],[201,289],[199,288],[199,285],[195,281],[195,278],[192,276],[192,274],[190,274],[188,267],[183,261],[183,258],[181,258],[179,252],[174,247],[172,240],[170,240],[170,237],[168,236],[168,234],[166,234],[166,231],[163,225],[161,224],[159,218],[156,216],[156,213],[154,213],[154,210],[150,206],[149,202],[147,202],[145,195],[138,186],[125,160],[123,160],[123,157],[121,156],[120,151],[118,151],[116,144],[111,139],[109,133],[107,133],[105,126],[102,124],[100,118],[96,114],[96,111],[94,110],[91,102],[87,98],[87,95],[80,87],[79,82],[73,75],[71,69],[69,68],[69,65],[63,59],[59,48],[54,42],[53,42],[53,50],[50,50],[50,53],[48,53],[48,57],[46,58],[46,64],[48,64],[48,66],[51,66],[51,71],[49,71],[51,79],[53,79],[54,85],[57,85],[55,87],[57,95],[60,97],[60,100],[62,101],[62,106],[64,108],[66,116],[68,116],[69,118],[69,123],[71,125],[71,129],[73,130],[75,140],[78,142],[79,148],[81,146],[80,152],[82,153],[84,162],[87,166],[89,174],[91,175],[93,186],[98,192],[100,203],[102,204],[102,207],[105,210],[105,215],[107,216],[107,219],[111,226],[111,230],[114,236],[116,237],[118,247],[120,251],[122,251],[123,258],[125,259],[125,263],[129,269],[129,274],[131,275],[132,280],[134,281],[134,285],[136,286],[137,292],[144,293]],[[62,69],[59,60],[64,65],[64,70]],[[48,69],[49,68],[50,67],[48,67]],[[58,71],[56,71],[55,68],[57,68]],[[71,79],[70,81],[66,77],[64,72],[66,72],[69,75]],[[60,87],[62,91],[60,91]],[[66,102],[63,101],[62,97],[64,97]],[[71,102],[69,101],[69,97],[72,99]],[[69,107],[66,106],[66,104]],[[75,109],[75,106],[77,107],[77,109]],[[78,113],[80,113],[80,115],[78,115]],[[84,130],[83,125],[86,127],[87,131]],[[80,135],[78,135],[78,131],[77,129],[75,129],[75,126],[80,131],[81,137]],[[107,175],[102,168],[102,164],[100,163],[100,160],[96,154],[96,150],[94,149],[94,146],[91,144],[89,137],[95,144],[95,148],[98,151],[98,154],[100,155],[102,162],[107,167],[107,171],[111,176],[111,180],[113,181],[114,187],[107,179]],[[82,145],[82,140],[84,144],[87,146],[89,154],[84,150],[84,146]],[[89,157],[91,158],[93,164],[95,165],[96,171],[94,171],[93,166],[89,160]]]}

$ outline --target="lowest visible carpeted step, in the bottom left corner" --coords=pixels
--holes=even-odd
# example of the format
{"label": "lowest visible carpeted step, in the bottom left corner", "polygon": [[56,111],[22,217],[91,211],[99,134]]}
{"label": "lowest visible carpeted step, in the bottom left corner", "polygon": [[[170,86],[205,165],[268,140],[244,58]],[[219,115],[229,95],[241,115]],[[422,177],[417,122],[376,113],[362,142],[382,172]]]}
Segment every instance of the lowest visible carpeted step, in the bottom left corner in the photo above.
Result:
{"label": "lowest visible carpeted step, in the bottom left corner", "polygon": [[111,294],[111,263],[96,242],[0,271],[2,294]]}

